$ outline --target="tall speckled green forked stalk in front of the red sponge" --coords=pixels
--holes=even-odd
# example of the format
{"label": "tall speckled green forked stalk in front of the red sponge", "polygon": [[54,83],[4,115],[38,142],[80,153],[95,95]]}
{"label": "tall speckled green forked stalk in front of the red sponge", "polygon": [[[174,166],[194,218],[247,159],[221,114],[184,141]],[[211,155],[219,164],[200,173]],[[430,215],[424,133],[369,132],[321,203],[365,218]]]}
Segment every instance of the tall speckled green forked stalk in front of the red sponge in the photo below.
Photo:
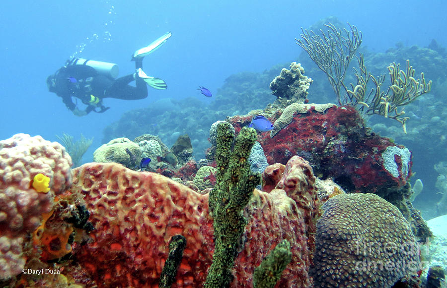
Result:
{"label": "tall speckled green forked stalk in front of the red sponge", "polygon": [[213,217],[215,250],[204,288],[229,287],[231,269],[245,229],[241,212],[248,204],[261,175],[250,170],[248,157],[256,140],[256,130],[243,127],[234,149],[231,124],[217,125],[216,186],[210,192],[209,206]]}

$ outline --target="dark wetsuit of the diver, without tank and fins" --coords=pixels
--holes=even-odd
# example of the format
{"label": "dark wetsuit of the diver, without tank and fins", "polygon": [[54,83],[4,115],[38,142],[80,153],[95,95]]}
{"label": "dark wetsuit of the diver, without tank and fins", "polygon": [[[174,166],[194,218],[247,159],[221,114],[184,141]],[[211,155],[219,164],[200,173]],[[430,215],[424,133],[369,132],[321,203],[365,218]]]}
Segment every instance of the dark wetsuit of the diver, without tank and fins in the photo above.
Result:
{"label": "dark wetsuit of the diver, without tank and fins", "polygon": [[[136,62],[136,68],[142,68],[142,60]],[[60,68],[54,75],[55,87],[52,89],[71,111],[76,109],[72,97],[88,105],[85,112],[98,113],[108,108],[102,104],[103,98],[116,98],[123,100],[140,100],[148,97],[146,82],[134,74],[113,79],[99,74],[94,68],[87,65],[68,65]],[[136,87],[129,85],[136,82]],[[96,109],[99,109],[97,111]]]}

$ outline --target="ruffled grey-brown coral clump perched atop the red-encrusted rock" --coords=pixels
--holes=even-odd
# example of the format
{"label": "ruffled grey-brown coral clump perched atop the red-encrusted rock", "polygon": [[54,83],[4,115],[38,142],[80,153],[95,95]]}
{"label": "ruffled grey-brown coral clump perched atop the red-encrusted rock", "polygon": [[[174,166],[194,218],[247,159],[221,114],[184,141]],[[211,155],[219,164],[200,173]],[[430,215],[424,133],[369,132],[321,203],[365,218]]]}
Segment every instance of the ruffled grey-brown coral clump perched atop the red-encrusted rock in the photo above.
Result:
{"label": "ruffled grey-brown coral clump perched atop the red-encrusted rock", "polygon": [[279,76],[270,83],[272,94],[277,97],[273,105],[285,108],[292,103],[304,102],[312,79],[304,76],[304,68],[300,63],[292,62],[290,70],[283,68]]}

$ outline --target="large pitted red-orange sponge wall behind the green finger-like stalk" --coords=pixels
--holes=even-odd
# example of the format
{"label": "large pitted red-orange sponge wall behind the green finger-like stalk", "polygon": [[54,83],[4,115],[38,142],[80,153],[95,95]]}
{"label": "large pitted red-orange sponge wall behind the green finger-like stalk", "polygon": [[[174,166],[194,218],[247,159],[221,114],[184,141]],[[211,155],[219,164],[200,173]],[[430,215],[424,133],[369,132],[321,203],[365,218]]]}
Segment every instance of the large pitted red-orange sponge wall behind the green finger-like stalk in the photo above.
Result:
{"label": "large pitted red-orange sponge wall behind the green finger-like stalk", "polygon": [[[306,223],[316,209],[314,176],[302,159],[286,171],[271,193],[255,190],[244,211],[248,225],[231,287],[250,287],[254,268],[282,239],[293,243],[293,260],[276,287],[311,286]],[[169,239],[182,234],[187,243],[172,287],[203,286],[214,249],[208,194],[112,163],[85,164],[74,170],[74,179],[71,190],[85,195],[95,227],[90,240],[74,249],[78,266],[69,271],[78,282],[87,287],[158,287]],[[303,197],[310,200],[306,207],[299,206]]]}

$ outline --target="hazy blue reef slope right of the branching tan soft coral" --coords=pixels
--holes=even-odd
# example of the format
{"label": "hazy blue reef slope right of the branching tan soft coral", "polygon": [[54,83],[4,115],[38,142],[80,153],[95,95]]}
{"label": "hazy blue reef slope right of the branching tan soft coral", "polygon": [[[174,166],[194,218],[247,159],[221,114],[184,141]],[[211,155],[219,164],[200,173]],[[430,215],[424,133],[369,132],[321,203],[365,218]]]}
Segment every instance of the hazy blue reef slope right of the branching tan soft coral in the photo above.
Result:
{"label": "hazy blue reef slope right of the branching tan soft coral", "polygon": [[[424,48],[405,46],[402,43],[397,43],[385,53],[365,52],[365,65],[374,75],[386,71],[392,62],[404,64],[406,59],[410,59],[414,67],[424,67],[424,76],[433,81],[430,93],[405,106],[405,116],[410,117],[406,125],[407,134],[402,131],[399,123],[393,123],[395,121],[387,121],[382,117],[371,117],[370,120],[374,132],[394,139],[396,143],[405,145],[413,152],[413,172],[424,182],[425,195],[416,198],[414,204],[423,208],[426,218],[443,214],[431,208],[442,197],[436,195],[439,191],[435,186],[438,173],[433,167],[440,160],[447,159],[447,107],[444,100],[447,88],[447,72],[444,67],[447,65],[447,59],[442,53],[445,52],[436,45]],[[390,83],[386,81],[384,84]]]}

